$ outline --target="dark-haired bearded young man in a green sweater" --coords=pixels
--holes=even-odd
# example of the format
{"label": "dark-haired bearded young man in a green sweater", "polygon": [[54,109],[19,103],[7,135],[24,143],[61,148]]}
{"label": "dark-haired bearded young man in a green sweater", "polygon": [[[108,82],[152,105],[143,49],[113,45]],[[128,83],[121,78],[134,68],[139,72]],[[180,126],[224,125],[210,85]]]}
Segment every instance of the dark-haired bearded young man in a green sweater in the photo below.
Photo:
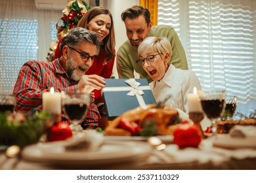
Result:
{"label": "dark-haired bearded young man in a green sweater", "polygon": [[136,63],[139,59],[138,46],[146,37],[167,37],[173,49],[171,63],[176,68],[188,69],[184,48],[173,27],[168,25],[152,27],[149,10],[140,6],[133,6],[124,10],[121,19],[125,23],[129,40],[123,43],[117,51],[116,64],[119,78],[135,78],[135,71],[139,73],[140,78],[146,78],[148,82],[152,81],[146,71]]}

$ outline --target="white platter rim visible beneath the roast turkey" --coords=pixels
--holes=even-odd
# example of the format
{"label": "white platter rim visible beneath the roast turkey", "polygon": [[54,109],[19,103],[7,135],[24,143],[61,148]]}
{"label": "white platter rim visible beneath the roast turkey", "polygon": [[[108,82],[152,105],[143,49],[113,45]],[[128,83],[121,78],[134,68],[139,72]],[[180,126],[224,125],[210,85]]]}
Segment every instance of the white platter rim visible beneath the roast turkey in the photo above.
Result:
{"label": "white platter rim visible beneath the roast turkey", "polygon": [[[157,135],[161,141],[165,143],[173,142],[173,135]],[[113,140],[113,141],[148,141],[150,137],[142,137],[142,136],[104,136],[106,140]]]}

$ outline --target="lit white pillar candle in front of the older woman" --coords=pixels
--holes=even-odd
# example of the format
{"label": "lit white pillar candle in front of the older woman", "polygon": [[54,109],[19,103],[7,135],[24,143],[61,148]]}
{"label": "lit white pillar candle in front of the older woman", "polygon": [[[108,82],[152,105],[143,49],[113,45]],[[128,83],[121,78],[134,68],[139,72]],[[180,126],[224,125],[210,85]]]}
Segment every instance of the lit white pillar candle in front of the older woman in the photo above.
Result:
{"label": "lit white pillar candle in front of the older woman", "polygon": [[196,87],[194,87],[194,93],[188,93],[188,112],[202,112],[202,105],[200,102],[200,97]]}

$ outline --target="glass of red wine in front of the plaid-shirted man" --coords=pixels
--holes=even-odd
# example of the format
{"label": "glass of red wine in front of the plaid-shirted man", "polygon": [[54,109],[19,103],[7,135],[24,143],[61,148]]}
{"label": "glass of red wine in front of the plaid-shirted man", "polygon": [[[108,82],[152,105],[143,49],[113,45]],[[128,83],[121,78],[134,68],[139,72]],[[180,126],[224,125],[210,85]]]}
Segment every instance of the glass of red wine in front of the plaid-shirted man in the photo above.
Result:
{"label": "glass of red wine in front of the plaid-shirted man", "polygon": [[66,92],[62,95],[62,108],[70,120],[70,127],[77,135],[83,131],[81,122],[86,119],[91,97],[84,92]]}

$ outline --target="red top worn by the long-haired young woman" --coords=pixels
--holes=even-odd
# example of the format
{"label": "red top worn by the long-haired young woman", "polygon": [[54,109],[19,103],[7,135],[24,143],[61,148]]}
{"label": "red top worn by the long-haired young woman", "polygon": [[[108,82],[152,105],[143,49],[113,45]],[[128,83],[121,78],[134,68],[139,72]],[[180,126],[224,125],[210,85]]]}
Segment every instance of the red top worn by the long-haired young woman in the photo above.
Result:
{"label": "red top worn by the long-haired young woman", "polygon": [[[63,39],[63,37],[62,37]],[[60,58],[60,42],[58,41],[58,45],[55,50],[54,59]],[[108,62],[107,64],[103,65],[103,62],[105,60],[105,54],[102,52],[102,48],[100,48],[100,52],[98,56],[95,57],[95,60],[93,61],[93,65],[90,67],[90,69],[85,73],[86,75],[98,75],[102,76],[104,78],[110,78],[112,75],[113,67],[114,67],[114,58]],[[103,98],[101,95],[100,90],[93,90],[95,92],[95,103],[102,103]]]}

